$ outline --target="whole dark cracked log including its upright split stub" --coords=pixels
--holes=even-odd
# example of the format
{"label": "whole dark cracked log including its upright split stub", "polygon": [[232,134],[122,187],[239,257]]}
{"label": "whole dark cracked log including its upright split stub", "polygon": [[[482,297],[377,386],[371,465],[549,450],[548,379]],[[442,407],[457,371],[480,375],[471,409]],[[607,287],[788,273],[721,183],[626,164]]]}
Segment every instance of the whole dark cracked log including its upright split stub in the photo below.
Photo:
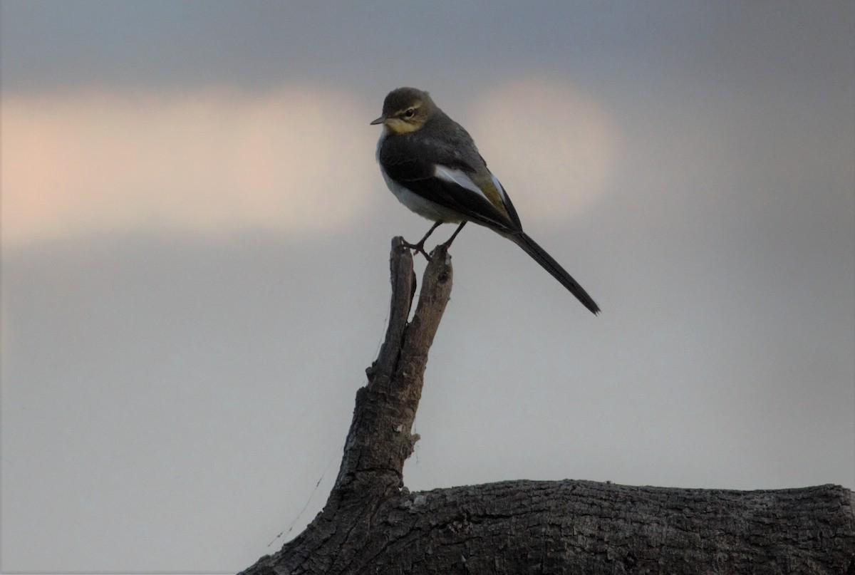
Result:
{"label": "whole dark cracked log including its upright split stub", "polygon": [[410,493],[404,461],[428,349],[451,293],[437,248],[416,289],[392,240],[386,341],[357,392],[326,506],[245,575],[298,573],[834,573],[855,575],[852,493],[734,491],[563,480]]}

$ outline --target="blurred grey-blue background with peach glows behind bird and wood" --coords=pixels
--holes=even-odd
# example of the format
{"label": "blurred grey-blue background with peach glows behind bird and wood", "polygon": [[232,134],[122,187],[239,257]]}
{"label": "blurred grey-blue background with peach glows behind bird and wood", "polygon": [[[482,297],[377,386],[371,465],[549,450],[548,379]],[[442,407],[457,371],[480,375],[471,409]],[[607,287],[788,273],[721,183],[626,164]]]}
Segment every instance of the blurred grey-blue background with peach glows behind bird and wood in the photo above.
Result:
{"label": "blurred grey-blue background with peach glows behind bird and wood", "polygon": [[430,225],[374,159],[398,86],[603,310],[465,228],[407,487],[855,488],[855,4],[0,18],[0,571],[237,572],[320,511]]}

